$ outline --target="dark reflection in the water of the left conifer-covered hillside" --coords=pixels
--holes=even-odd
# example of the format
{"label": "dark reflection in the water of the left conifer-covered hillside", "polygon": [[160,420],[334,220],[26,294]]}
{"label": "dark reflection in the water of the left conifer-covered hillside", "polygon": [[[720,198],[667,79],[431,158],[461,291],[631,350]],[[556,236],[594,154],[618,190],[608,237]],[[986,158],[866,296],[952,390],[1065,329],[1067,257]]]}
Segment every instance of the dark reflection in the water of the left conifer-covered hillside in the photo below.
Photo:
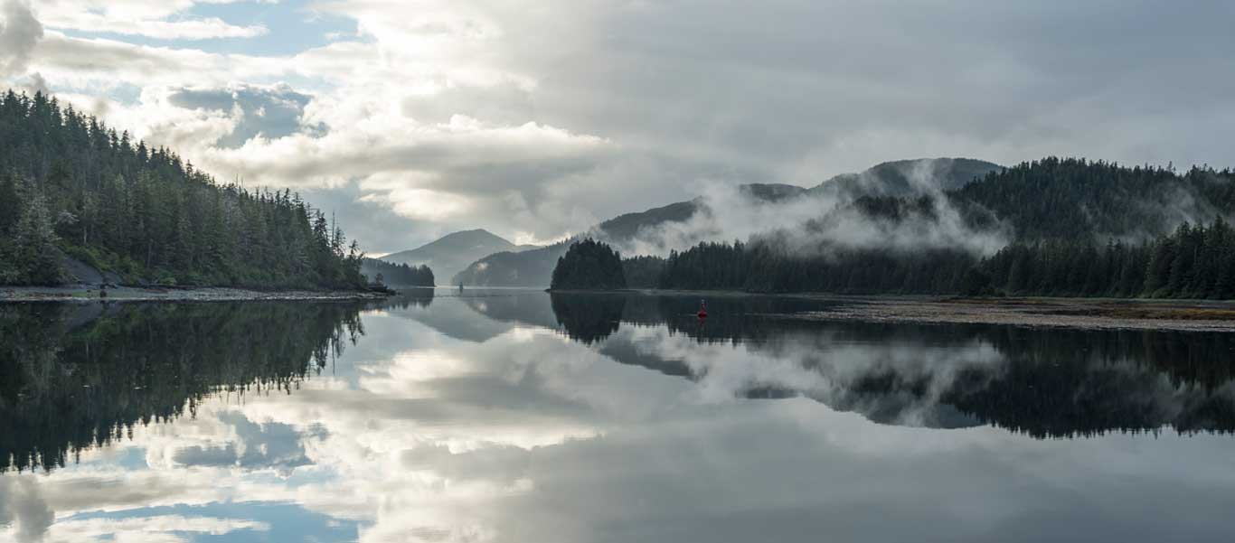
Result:
{"label": "dark reflection in the water of the left conifer-covered hillside", "polygon": [[363,334],[356,302],[0,306],[0,471],[63,466],[216,394],[290,394]]}

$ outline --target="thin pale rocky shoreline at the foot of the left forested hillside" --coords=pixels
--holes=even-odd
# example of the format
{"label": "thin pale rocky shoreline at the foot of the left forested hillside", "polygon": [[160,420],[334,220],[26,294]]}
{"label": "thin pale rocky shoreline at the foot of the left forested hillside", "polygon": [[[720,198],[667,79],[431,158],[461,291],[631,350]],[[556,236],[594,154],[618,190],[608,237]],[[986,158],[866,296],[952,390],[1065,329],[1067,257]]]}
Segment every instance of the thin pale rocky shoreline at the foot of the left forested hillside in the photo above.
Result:
{"label": "thin pale rocky shoreline at the foot of the left forested hillside", "polygon": [[25,302],[107,302],[107,301],[295,301],[295,300],[382,300],[387,295],[352,290],[249,290],[231,286],[161,289],[115,286],[100,297],[96,285],[0,286],[0,305]]}

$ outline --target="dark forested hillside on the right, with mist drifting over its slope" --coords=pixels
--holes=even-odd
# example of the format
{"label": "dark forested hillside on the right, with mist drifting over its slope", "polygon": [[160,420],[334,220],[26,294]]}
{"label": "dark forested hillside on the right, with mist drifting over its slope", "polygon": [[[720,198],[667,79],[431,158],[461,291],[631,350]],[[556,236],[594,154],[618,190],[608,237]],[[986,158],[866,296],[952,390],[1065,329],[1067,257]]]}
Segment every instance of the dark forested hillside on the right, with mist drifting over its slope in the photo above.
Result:
{"label": "dark forested hillside on the right, with mist drifting over its slope", "polygon": [[[990,254],[853,246],[810,238],[805,225],[797,234],[809,243],[799,241],[792,251],[779,243],[783,233],[774,233],[626,259],[622,270],[632,288],[1235,299],[1235,230],[1225,218],[1235,209],[1230,170],[1178,175],[1047,158],[934,197],[961,209],[973,232],[1010,232],[1010,243]],[[944,228],[934,197],[866,196],[815,222],[839,215]]]}

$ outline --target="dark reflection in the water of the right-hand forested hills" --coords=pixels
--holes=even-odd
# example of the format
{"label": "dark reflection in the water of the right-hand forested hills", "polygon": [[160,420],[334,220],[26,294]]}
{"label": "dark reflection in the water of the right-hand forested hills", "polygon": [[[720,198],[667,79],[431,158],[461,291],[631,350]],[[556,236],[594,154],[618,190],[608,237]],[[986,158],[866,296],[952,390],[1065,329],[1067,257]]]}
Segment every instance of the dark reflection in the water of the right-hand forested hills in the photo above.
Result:
{"label": "dark reflection in the water of the right-hand forested hills", "polygon": [[[1231,333],[821,322],[793,313],[826,311],[835,302],[747,296],[709,300],[711,317],[703,323],[693,315],[693,296],[552,296],[568,337],[600,343],[601,353],[622,363],[690,379],[716,369],[706,359],[657,357],[647,346],[604,342],[619,321],[663,326],[671,337],[700,346],[730,344],[790,360],[829,385],[761,380],[755,369],[736,391],[746,397],[800,395],[877,422],[988,423],[1036,438],[1156,432],[1163,426],[1181,433],[1235,431]],[[857,362],[855,347],[865,353]],[[984,363],[963,360],[965,353],[982,349],[990,353]]]}

